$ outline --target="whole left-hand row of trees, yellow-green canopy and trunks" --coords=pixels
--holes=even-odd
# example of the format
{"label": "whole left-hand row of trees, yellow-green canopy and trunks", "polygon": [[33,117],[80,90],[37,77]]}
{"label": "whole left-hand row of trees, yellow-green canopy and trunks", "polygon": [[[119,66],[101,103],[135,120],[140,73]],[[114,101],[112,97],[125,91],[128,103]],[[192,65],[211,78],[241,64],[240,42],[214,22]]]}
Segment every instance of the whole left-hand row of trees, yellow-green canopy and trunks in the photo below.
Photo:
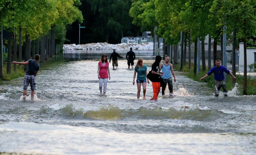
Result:
{"label": "whole left-hand row of trees, yellow-green canopy and trunks", "polygon": [[[40,62],[55,55],[65,40],[66,25],[83,21],[79,5],[79,0],[1,0],[1,35],[3,30],[14,33],[14,39],[7,40],[7,73],[11,72],[12,54],[13,61],[27,61],[40,54]],[[3,78],[3,40],[0,52],[0,78]],[[15,70],[16,64],[13,65]]]}

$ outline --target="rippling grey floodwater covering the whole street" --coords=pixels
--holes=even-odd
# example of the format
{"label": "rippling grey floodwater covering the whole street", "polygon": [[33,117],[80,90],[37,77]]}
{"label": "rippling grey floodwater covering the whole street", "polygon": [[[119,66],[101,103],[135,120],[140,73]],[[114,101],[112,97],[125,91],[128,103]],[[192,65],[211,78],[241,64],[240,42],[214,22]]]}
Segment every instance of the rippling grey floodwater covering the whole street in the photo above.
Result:
{"label": "rippling grey floodwater covering the whole street", "polygon": [[[150,83],[147,100],[137,99],[125,60],[110,70],[106,96],[99,95],[103,52],[109,51],[89,58],[64,52],[64,61],[38,72],[36,101],[20,99],[22,77],[4,81],[0,154],[255,154],[256,96],[239,96],[235,87],[216,98],[213,88],[175,71],[176,96],[160,92],[157,102],[149,101]],[[149,71],[151,53],[143,53],[136,55],[144,56]]]}

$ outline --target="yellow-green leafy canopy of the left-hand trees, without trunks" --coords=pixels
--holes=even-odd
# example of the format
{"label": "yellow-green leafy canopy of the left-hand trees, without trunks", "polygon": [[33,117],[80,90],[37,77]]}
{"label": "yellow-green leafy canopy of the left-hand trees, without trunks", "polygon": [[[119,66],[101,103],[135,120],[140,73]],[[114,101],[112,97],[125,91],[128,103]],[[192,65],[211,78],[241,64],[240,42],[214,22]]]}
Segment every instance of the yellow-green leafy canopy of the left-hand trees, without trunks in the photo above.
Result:
{"label": "yellow-green leafy canopy of the left-hand trees, without trunks", "polygon": [[0,26],[15,34],[21,27],[24,41],[26,34],[35,40],[47,35],[56,25],[55,31],[61,36],[58,39],[65,40],[65,26],[83,20],[77,8],[80,4],[79,0],[4,0],[0,2]]}

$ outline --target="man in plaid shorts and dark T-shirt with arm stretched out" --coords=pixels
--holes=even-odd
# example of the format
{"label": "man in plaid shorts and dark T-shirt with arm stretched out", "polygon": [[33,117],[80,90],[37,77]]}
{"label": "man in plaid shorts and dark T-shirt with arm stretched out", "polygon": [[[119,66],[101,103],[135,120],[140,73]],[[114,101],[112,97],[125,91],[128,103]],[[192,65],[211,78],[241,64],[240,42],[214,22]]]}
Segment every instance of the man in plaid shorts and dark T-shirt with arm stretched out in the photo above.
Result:
{"label": "man in plaid shorts and dark T-shirt with arm stretched out", "polygon": [[36,54],[34,56],[34,60],[29,59],[26,62],[16,62],[16,61],[12,62],[13,64],[28,65],[27,71],[24,76],[24,81],[23,81],[23,100],[24,101],[26,100],[27,88],[29,84],[31,88],[31,100],[35,99],[35,89],[36,89],[35,77],[37,75],[37,72],[39,71],[39,64],[37,63],[39,58],[40,56]]}

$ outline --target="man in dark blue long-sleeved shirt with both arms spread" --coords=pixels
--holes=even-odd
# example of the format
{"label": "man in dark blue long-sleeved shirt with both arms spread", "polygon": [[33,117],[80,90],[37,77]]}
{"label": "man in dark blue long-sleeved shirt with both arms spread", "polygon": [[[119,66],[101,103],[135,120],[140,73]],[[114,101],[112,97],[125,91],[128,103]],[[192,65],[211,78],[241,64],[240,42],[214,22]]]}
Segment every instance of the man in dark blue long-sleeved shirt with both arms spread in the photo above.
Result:
{"label": "man in dark blue long-sleeved shirt with both arms spread", "polygon": [[224,81],[224,72],[231,75],[234,79],[236,77],[230,73],[229,70],[227,70],[224,66],[220,66],[220,60],[215,61],[215,67],[213,67],[203,78],[200,78],[200,80],[205,79],[206,77],[210,76],[212,73],[214,73],[214,79],[215,79],[215,96],[219,96],[220,88],[223,89],[223,94],[226,97],[227,96],[227,89],[226,89],[226,83]]}

